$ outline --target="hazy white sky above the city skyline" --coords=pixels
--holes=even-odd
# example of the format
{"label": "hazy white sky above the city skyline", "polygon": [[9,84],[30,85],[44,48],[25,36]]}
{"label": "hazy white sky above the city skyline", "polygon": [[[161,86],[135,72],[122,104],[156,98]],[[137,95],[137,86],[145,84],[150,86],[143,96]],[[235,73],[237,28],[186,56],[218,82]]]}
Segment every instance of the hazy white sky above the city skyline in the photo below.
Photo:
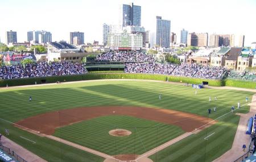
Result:
{"label": "hazy white sky above the city skyline", "polygon": [[119,5],[142,6],[142,26],[155,31],[156,18],[171,20],[171,32],[243,34],[245,45],[256,41],[255,0],[0,0],[0,38],[17,31],[19,42],[27,31],[46,30],[52,40],[69,40],[69,32],[85,33],[85,42],[102,42],[102,24],[117,24]]}

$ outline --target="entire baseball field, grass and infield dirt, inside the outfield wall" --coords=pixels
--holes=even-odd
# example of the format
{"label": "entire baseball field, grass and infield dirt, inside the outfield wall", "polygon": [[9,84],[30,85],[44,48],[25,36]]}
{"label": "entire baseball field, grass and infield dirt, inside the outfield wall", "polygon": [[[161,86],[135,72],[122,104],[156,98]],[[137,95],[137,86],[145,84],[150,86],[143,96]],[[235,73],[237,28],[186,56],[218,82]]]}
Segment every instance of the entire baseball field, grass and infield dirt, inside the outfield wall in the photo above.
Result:
{"label": "entire baseball field, grass and infield dirt, inside the outfield wall", "polygon": [[[132,80],[4,88],[0,132],[9,128],[8,138],[47,161],[106,161],[106,155],[123,161],[142,155],[151,161],[212,161],[232,147],[240,119],[235,113],[249,111],[245,98],[253,94],[210,88],[195,94],[191,86]],[[238,102],[241,109],[229,113]]]}

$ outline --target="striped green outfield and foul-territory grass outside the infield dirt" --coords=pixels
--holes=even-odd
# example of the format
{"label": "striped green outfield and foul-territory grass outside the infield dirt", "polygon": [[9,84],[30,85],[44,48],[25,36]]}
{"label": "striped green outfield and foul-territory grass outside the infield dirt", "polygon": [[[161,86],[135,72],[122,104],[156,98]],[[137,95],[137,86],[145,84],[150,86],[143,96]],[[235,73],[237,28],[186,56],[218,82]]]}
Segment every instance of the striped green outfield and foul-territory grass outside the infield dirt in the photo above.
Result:
{"label": "striped green outfield and foul-territory grass outside the infield dirt", "polygon": [[[163,99],[161,101],[158,99],[159,93],[162,93]],[[32,102],[28,102],[30,95],[32,96]],[[229,112],[232,105],[237,106],[238,101],[241,105],[245,104],[245,97],[248,96],[251,99],[251,95],[253,95],[251,92],[218,89],[197,90],[197,95],[195,95],[195,90],[191,87],[146,81],[92,81],[78,82],[75,84],[0,89],[0,118],[10,122],[16,122],[33,115],[60,109],[72,109],[74,107],[85,106],[123,105],[174,109],[203,115],[205,117],[208,116],[207,110],[209,108],[217,106],[217,112],[210,114],[210,118],[214,119]],[[211,102],[209,102],[209,96],[212,97]],[[214,101],[215,96],[218,97],[217,101]],[[246,113],[249,110],[248,108],[249,106],[244,106],[240,110],[240,113]],[[220,156],[232,146],[238,120],[239,117],[230,114],[228,117],[224,118],[223,121],[216,124],[216,126],[209,128],[209,130],[214,129],[216,132],[224,132],[224,130],[227,130],[228,133],[214,134],[217,138],[214,140],[213,146],[221,146],[221,149],[216,148],[207,153],[207,159],[214,159]],[[74,126],[76,126],[76,124]],[[1,121],[0,132],[2,134],[4,134],[5,127],[8,127],[10,130],[11,140],[14,140],[16,143],[26,147],[48,161],[102,161],[101,157],[78,151],[75,148],[65,146],[53,140],[32,135],[11,126],[11,124]],[[81,135],[82,131],[84,130],[77,133]],[[198,135],[190,136],[188,139],[175,144],[175,147],[172,146],[164,149],[162,152],[158,153],[159,161],[168,161],[168,158],[174,161],[176,161],[175,159],[184,161],[187,158],[187,156],[181,156],[184,152],[190,152],[188,155],[192,160],[189,161],[196,161],[196,159],[201,160],[201,158],[204,157],[204,153],[195,152],[197,149],[203,151],[203,149],[199,149],[202,147],[200,139],[201,136],[205,134],[205,131],[202,131]],[[31,138],[37,143],[31,144],[19,136],[24,136],[28,139]],[[201,143],[194,143],[196,140]],[[187,144],[191,143],[193,143],[193,146],[187,146]],[[57,148],[59,148],[59,150]],[[175,148],[176,153],[172,153],[173,148]],[[70,160],[72,159],[71,157],[76,157],[77,159]],[[84,159],[82,157],[86,157],[87,160],[81,160]]]}

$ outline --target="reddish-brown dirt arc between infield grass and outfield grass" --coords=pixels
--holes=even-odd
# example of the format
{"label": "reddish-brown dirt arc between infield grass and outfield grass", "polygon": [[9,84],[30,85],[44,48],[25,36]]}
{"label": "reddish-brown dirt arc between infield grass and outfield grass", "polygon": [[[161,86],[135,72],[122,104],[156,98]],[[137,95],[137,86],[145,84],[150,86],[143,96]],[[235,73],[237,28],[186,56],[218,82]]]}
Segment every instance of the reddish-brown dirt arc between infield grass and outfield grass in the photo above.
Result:
{"label": "reddish-brown dirt arc between infield grass and outfield grass", "polygon": [[[15,124],[38,131],[42,134],[52,135],[55,132],[55,128],[106,115],[129,115],[151,121],[173,124],[181,127],[186,132],[191,132],[195,130],[195,128],[212,122],[210,118],[207,119],[199,115],[175,110],[133,106],[100,106],[52,111],[23,119]],[[215,122],[212,122],[211,124],[214,123]]]}

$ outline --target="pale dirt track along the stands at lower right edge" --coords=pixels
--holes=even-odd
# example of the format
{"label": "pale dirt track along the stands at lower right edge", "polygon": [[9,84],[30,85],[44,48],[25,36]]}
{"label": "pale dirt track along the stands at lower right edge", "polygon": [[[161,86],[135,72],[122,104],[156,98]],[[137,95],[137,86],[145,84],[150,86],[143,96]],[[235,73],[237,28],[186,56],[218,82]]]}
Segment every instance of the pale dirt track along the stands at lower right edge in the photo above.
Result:
{"label": "pale dirt track along the stands at lower right edge", "polygon": [[254,114],[256,114],[256,94],[253,95],[253,99],[251,100],[250,112],[247,114],[237,114],[241,117],[232,148],[213,162],[234,161],[245,154],[245,152],[242,151],[242,145],[246,144],[246,147],[249,147],[251,140],[250,135],[245,134],[247,130],[247,122]]}

